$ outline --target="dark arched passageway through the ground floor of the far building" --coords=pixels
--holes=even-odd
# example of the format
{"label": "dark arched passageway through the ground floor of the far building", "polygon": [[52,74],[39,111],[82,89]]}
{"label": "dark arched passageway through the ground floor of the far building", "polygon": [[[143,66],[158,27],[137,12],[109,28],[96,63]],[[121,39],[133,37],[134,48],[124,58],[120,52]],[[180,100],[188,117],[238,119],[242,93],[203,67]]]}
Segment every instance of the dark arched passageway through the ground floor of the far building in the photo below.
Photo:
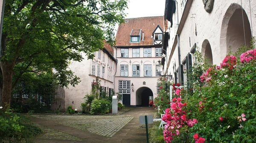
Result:
{"label": "dark arched passageway through the ground floor of the far building", "polygon": [[136,106],[148,106],[149,97],[153,92],[148,87],[140,87],[136,91]]}

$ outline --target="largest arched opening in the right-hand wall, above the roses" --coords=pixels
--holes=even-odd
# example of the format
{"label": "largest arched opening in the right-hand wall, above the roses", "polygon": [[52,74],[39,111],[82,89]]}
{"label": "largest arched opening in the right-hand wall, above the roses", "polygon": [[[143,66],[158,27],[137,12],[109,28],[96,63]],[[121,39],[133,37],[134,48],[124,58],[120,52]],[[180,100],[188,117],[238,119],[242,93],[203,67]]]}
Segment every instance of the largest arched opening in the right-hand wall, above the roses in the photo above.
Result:
{"label": "largest arched opening in the right-hand wall, above the roses", "polygon": [[250,22],[244,9],[239,4],[232,3],[227,9],[221,25],[221,59],[231,51],[235,53],[241,45],[250,46]]}

